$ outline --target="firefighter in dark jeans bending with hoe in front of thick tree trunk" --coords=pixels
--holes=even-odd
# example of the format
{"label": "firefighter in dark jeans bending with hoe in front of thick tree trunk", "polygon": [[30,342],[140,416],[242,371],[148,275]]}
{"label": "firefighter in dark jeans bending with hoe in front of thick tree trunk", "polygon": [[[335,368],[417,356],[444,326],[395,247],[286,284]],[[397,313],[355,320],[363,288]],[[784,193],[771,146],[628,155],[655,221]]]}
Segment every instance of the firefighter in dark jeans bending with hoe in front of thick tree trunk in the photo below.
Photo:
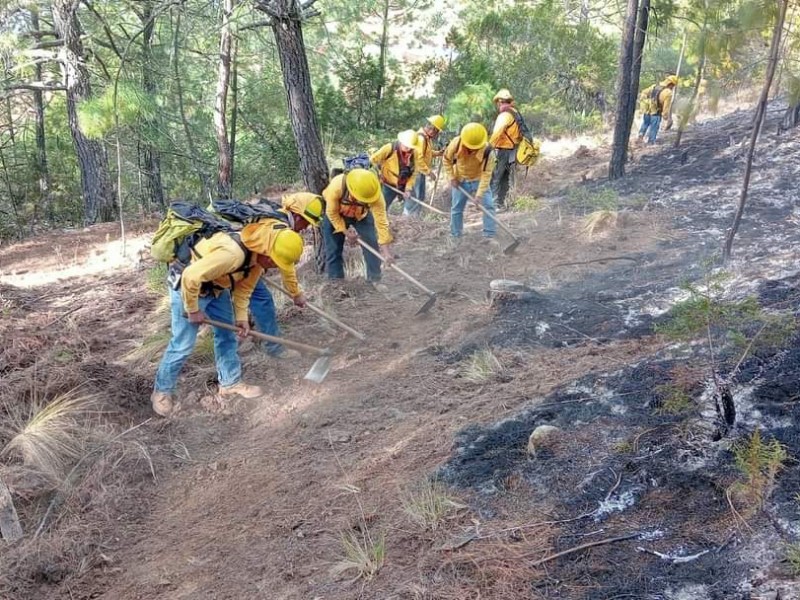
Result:
{"label": "firefighter in dark jeans bending with hoe in front of thick tree trunk", "polygon": [[[320,229],[325,240],[325,269],[328,279],[344,279],[344,243],[355,244],[360,237],[392,260],[389,219],[378,176],[367,169],[353,169],[337,175],[322,190],[325,218]],[[367,281],[381,279],[381,260],[363,249]]]}

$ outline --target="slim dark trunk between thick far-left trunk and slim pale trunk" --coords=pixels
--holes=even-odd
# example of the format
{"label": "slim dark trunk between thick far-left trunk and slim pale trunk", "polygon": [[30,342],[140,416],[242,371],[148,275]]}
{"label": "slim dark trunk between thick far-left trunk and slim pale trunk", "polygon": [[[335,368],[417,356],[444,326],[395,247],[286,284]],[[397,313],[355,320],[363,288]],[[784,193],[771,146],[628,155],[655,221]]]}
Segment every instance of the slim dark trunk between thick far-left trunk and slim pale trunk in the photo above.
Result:
{"label": "slim dark trunk between thick far-left trunk and slim pale trunk", "polygon": [[[154,96],[158,91],[156,76],[153,73],[153,36],[155,33],[155,20],[153,19],[153,0],[146,0],[139,13],[142,21],[142,88],[147,94]],[[151,136],[157,129],[158,117],[146,119],[143,123],[145,139],[140,146],[140,169],[144,176],[147,198],[151,206],[166,208],[164,201],[164,185],[161,182],[161,153],[153,143]]]}

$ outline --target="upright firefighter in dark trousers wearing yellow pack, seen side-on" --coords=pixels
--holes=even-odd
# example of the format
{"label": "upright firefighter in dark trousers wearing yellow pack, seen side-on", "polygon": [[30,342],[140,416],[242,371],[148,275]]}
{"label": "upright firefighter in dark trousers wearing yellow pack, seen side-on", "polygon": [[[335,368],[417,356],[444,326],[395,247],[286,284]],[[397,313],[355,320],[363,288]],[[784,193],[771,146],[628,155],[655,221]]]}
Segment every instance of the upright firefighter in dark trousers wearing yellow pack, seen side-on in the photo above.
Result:
{"label": "upright firefighter in dark trousers wearing yellow pack, seen side-on", "polygon": [[514,107],[514,97],[511,92],[502,89],[492,100],[497,107],[497,118],[489,138],[489,143],[497,155],[497,164],[492,174],[492,196],[497,204],[497,210],[505,210],[506,196],[514,177],[517,145],[522,141],[522,131],[517,122],[517,109]]}

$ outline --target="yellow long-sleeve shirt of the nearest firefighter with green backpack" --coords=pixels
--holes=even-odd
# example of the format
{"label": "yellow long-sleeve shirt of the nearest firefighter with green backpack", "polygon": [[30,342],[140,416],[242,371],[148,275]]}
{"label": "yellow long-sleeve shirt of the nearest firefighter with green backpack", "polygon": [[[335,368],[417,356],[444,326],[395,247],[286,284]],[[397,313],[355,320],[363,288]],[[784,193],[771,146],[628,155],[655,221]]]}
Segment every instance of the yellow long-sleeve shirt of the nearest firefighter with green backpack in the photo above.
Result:
{"label": "yellow long-sleeve shirt of the nearest firefighter with green backpack", "polygon": [[200,240],[193,249],[191,264],[181,275],[181,298],[187,313],[200,310],[200,289],[204,283],[212,282],[220,288],[233,286],[233,311],[237,321],[247,320],[250,296],[264,272],[250,255],[250,268],[242,271],[245,253],[241,246],[227,233],[215,233]]}

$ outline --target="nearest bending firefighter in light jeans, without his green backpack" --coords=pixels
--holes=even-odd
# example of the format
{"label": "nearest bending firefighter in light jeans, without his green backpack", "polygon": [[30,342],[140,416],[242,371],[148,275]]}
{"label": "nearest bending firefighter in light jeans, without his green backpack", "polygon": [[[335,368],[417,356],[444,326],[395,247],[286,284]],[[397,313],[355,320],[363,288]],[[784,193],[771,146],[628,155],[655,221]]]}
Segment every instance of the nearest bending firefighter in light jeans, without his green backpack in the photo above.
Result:
{"label": "nearest bending firefighter in light jeans, without his green backpack", "polygon": [[[192,248],[191,262],[178,273],[179,284],[170,286],[172,338],[156,372],[150,401],[153,410],[168,416],[175,407],[178,375],[194,348],[198,326],[206,318],[236,323],[242,336],[250,332],[250,296],[264,269],[277,267],[284,284],[296,283],[295,263],[303,253],[303,238],[282,221],[269,219],[247,225],[237,234],[215,233]],[[174,280],[173,280],[174,281]],[[300,294],[295,286],[294,293]],[[185,314],[184,314],[185,313]],[[242,382],[236,334],[214,328],[214,358],[219,395],[255,398],[257,386]]]}

